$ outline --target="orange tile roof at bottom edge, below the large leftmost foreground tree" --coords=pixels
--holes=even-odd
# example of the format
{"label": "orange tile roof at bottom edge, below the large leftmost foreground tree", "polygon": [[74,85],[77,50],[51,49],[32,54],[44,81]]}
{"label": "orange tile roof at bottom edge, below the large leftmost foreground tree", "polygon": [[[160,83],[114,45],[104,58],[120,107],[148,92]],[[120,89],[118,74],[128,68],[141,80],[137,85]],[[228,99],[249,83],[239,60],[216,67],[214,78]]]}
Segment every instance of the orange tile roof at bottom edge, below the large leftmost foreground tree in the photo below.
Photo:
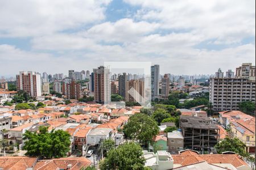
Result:
{"label": "orange tile roof at bottom edge, below the large leftmost foreground tree", "polygon": [[48,170],[48,169],[67,169],[71,165],[72,170],[80,170],[82,167],[88,167],[91,162],[86,158],[59,158],[50,160],[39,160],[33,169]]}

